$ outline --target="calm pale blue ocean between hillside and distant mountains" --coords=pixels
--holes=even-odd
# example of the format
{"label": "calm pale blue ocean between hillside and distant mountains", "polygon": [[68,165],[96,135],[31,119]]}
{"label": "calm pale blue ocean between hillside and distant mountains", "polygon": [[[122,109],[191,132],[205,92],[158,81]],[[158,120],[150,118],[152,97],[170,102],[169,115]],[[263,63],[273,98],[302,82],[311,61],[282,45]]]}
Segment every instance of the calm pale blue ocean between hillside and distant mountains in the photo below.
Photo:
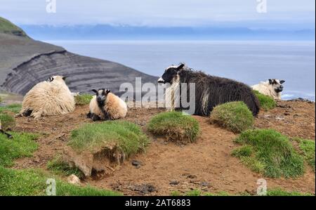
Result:
{"label": "calm pale blue ocean between hillside and distant mountains", "polygon": [[169,65],[245,84],[283,79],[282,99],[315,101],[315,41],[62,41],[46,40],[72,53],[111,60],[161,76]]}

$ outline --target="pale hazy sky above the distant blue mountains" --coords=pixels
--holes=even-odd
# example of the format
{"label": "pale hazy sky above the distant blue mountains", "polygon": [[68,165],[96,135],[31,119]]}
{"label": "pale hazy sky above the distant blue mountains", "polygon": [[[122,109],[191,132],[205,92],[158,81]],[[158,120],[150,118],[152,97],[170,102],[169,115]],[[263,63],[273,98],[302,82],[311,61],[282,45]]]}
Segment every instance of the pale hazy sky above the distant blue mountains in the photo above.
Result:
{"label": "pale hazy sky above the distant blue mountains", "polygon": [[[56,1],[47,13],[46,1]],[[18,25],[197,26],[254,22],[315,22],[315,0],[0,0],[0,16]]]}

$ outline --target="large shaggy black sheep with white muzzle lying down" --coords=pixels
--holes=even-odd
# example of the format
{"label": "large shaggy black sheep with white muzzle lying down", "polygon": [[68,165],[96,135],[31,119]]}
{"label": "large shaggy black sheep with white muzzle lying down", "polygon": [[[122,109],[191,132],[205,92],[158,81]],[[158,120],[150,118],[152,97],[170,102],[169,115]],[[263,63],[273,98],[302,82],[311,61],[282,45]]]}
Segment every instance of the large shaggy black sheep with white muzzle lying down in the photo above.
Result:
{"label": "large shaggy black sheep with white muzzle lying down", "polygon": [[[246,84],[242,84],[232,79],[214,77],[196,72],[183,63],[180,65],[171,65],[167,67],[162,77],[158,79],[158,83],[169,83],[171,86],[166,89],[166,95],[172,93],[172,90],[186,84],[187,97],[190,96],[190,85],[195,84],[195,113],[196,115],[208,116],[213,107],[230,101],[243,101],[249,107],[252,114],[256,116],[259,112],[258,98],[254,95],[251,88]],[[176,110],[185,110],[182,104],[181,93],[174,96],[179,107]],[[172,100],[172,99],[171,99]],[[187,100],[186,98],[186,101]]]}

